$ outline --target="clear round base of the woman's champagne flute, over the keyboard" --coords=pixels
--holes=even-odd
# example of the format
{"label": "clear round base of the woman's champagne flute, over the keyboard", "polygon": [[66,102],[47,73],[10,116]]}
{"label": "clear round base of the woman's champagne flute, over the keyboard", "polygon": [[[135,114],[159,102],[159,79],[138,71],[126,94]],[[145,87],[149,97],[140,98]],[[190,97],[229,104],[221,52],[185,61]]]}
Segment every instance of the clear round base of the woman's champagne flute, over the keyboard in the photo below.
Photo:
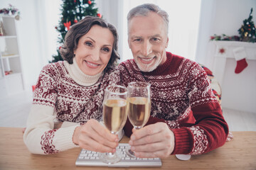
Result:
{"label": "clear round base of the woman's champagne flute, over the keyboard", "polygon": [[122,152],[117,150],[114,154],[112,153],[99,153],[99,158],[106,164],[115,164],[122,159]]}

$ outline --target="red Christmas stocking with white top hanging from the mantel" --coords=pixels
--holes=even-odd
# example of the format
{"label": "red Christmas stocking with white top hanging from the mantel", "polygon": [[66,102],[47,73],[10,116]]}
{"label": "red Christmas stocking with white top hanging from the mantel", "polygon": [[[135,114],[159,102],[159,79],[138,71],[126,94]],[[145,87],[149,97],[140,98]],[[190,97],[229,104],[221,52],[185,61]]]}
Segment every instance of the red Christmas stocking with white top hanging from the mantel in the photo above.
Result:
{"label": "red Christmas stocking with white top hanging from the mantel", "polygon": [[248,66],[248,64],[245,60],[247,55],[245,53],[244,47],[237,47],[233,50],[233,52],[235,55],[235,60],[237,61],[237,65],[235,67],[235,73],[238,74],[238,73],[242,72],[242,70]]}

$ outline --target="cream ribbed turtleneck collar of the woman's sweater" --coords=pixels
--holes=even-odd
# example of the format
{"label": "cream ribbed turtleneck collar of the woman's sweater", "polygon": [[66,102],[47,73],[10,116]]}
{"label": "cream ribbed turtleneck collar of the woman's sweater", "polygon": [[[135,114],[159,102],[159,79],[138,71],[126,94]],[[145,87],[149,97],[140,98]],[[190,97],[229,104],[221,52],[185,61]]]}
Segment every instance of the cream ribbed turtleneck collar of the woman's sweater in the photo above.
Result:
{"label": "cream ribbed turtleneck collar of the woman's sweater", "polygon": [[84,74],[82,70],[78,67],[78,63],[75,61],[75,57],[73,57],[73,64],[69,64],[67,61],[64,61],[65,68],[68,70],[68,74],[70,77],[77,83],[82,86],[92,86],[97,83],[100,79],[102,72],[96,74],[94,76],[89,76]]}

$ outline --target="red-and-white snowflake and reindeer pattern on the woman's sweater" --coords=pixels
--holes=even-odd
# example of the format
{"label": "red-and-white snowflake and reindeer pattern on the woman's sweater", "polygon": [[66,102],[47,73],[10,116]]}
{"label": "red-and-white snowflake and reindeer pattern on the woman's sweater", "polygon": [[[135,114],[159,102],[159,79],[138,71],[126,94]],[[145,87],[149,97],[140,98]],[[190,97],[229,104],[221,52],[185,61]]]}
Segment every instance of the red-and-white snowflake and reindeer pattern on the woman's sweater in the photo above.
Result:
{"label": "red-and-white snowflake and reindeer pattern on the woman's sweater", "polygon": [[[33,105],[53,107],[56,118],[61,121],[84,124],[87,120],[100,120],[104,89],[110,84],[118,84],[117,70],[108,70],[92,86],[77,84],[64,62],[56,62],[43,67],[36,84]],[[49,130],[41,137],[45,154],[58,152],[53,145],[56,130]]]}

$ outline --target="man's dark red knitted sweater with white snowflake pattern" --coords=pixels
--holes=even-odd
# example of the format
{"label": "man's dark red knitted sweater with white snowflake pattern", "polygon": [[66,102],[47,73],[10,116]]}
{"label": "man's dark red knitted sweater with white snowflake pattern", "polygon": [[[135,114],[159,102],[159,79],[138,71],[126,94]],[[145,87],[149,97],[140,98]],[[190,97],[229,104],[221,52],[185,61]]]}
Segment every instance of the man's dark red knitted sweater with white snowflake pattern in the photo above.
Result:
{"label": "man's dark red knitted sweater with white snowflake pattern", "polygon": [[[206,72],[196,62],[166,52],[166,62],[153,72],[141,72],[134,60],[119,64],[121,84],[151,84],[151,117],[146,125],[165,122],[175,135],[172,154],[203,154],[224,145],[228,136],[220,105]],[[127,136],[132,125],[127,119]]]}

